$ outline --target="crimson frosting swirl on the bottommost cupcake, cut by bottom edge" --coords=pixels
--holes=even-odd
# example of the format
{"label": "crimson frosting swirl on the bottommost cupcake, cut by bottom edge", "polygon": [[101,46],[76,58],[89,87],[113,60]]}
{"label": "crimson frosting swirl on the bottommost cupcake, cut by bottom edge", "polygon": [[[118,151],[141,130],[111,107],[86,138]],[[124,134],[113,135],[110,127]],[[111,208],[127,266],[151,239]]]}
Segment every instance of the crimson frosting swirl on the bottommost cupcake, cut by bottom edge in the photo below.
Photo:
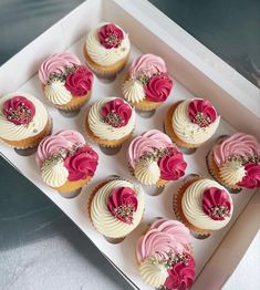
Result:
{"label": "crimson frosting swirl on the bottommost cupcake, cut by bottom edge", "polygon": [[195,280],[195,260],[188,256],[187,262],[179,261],[168,270],[168,277],[165,281],[167,290],[189,289]]}

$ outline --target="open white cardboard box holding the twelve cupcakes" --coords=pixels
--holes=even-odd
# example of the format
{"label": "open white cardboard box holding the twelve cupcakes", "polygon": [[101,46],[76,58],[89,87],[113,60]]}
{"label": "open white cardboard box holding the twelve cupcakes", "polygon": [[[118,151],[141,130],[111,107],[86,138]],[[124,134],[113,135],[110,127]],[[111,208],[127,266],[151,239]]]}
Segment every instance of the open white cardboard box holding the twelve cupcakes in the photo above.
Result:
{"label": "open white cardboard box holding the twelve cupcakes", "polygon": [[[221,125],[215,137],[232,134],[236,131],[248,132],[260,137],[260,90],[145,0],[85,1],[0,68],[0,94],[22,90],[37,95],[44,102],[37,76],[40,63],[50,54],[65,50],[75,53],[83,61],[84,35],[100,21],[115,22],[129,33],[133,43],[132,58],[142,52],[163,56],[167,61],[168,71],[176,80],[173,94],[166,104],[158,108],[153,118],[137,117],[139,125],[136,127],[136,135],[148,128],[163,130],[162,115],[166,112],[170,102],[198,95],[210,100],[222,115]],[[95,80],[90,104],[101,96],[119,95],[123,74],[117,76],[112,84],[104,84]],[[75,128],[83,133],[84,110],[74,118],[64,118],[53,107],[49,107],[49,111],[54,120],[54,131]],[[145,196],[146,211],[142,225],[119,245],[108,244],[93,229],[86,210],[90,191],[101,179],[111,174],[133,179],[124,162],[127,144],[114,157],[104,155],[95,146],[101,156],[101,164],[95,178],[90,186],[83,189],[80,196],[71,200],[62,198],[42,183],[39,172],[35,169],[34,156],[18,156],[12,149],[2,145],[0,145],[0,149],[10,163],[15,164],[15,167],[27,178],[35,184],[87,235],[134,287],[149,289],[138,276],[134,259],[135,242],[153,218],[158,216],[174,218],[170,206],[171,198],[181,180],[167,186],[159,196]],[[201,146],[194,155],[185,156],[188,162],[188,174],[198,173],[209,176],[205,156],[212,144],[214,139]],[[104,164],[106,164],[106,167],[104,167]],[[233,237],[232,229],[229,235],[226,236],[226,234],[246,208],[253,194],[253,190],[243,190],[238,195],[232,195],[235,213],[228,227],[215,232],[206,240],[193,238],[197,262],[197,281],[194,289],[219,289],[235,269],[241,258],[241,249],[239,249],[240,256],[235,255],[238,258],[236,261],[227,259],[225,266],[219,268],[222,271],[214,272],[215,280],[209,275],[215,270],[216,263],[221,265],[218,255],[225,251],[225,241],[229,237]],[[233,228],[237,224],[233,225]],[[241,240],[243,239],[239,238],[240,242]],[[209,288],[204,288],[205,286]]]}

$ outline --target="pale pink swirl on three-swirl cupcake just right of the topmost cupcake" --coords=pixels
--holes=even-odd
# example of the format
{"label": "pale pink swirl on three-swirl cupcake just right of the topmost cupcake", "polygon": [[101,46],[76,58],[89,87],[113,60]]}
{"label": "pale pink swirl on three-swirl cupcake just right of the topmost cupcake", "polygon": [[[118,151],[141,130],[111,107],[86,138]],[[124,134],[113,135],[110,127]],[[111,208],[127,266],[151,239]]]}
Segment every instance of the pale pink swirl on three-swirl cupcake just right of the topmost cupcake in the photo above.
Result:
{"label": "pale pink swirl on three-swirl cupcake just right of the topmost cupcake", "polygon": [[135,59],[129,66],[129,75],[136,80],[141,75],[152,76],[157,73],[166,73],[165,61],[154,54],[144,54]]}

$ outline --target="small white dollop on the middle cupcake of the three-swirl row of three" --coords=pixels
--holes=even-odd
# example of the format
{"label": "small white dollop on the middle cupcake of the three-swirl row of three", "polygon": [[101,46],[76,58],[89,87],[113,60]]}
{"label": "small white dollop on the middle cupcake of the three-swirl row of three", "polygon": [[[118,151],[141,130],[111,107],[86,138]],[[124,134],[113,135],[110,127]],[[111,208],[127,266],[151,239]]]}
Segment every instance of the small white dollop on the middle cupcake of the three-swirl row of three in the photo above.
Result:
{"label": "small white dollop on the middle cupcake of the three-swirl row of three", "polygon": [[160,177],[157,162],[152,159],[139,159],[135,165],[135,177],[145,185],[155,185]]}

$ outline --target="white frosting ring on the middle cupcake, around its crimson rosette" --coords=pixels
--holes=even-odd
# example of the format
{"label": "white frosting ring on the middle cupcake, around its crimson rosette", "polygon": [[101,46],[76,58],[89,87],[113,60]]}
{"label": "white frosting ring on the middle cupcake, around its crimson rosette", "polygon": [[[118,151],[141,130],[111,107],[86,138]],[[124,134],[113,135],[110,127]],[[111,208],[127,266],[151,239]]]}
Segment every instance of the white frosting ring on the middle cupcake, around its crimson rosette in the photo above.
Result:
{"label": "white frosting ring on the middle cupcake, around its crimson rosette", "polygon": [[[95,136],[103,139],[121,139],[127,136],[135,126],[135,111],[132,108],[132,116],[128,120],[128,123],[122,127],[113,127],[112,125],[105,123],[101,115],[102,106],[114,100],[116,97],[106,97],[97,101],[92,105],[89,112],[89,126]],[[125,101],[124,101],[125,102]],[[125,102],[126,103],[126,102]],[[128,104],[128,103],[126,103]],[[128,104],[129,105],[129,104]]]}

